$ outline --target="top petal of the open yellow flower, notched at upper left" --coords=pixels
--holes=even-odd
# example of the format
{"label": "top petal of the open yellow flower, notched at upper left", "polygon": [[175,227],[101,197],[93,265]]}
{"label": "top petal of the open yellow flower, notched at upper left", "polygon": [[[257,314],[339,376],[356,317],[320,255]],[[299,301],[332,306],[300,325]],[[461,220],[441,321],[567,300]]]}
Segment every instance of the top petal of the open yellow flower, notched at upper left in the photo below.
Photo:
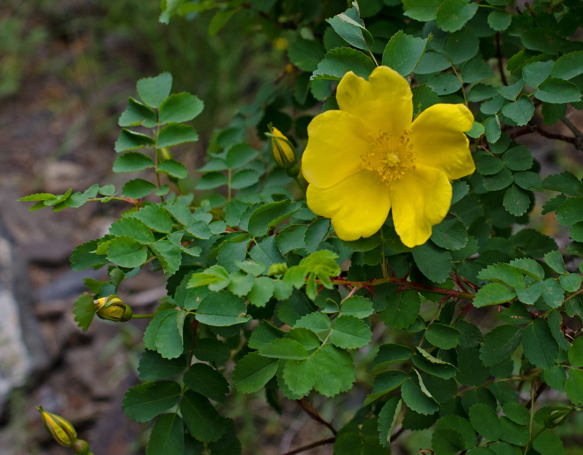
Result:
{"label": "top petal of the open yellow flower, notched at upper left", "polygon": [[373,133],[400,136],[413,117],[413,94],[405,79],[388,66],[378,66],[368,81],[347,72],[336,90],[340,110],[363,119]]}

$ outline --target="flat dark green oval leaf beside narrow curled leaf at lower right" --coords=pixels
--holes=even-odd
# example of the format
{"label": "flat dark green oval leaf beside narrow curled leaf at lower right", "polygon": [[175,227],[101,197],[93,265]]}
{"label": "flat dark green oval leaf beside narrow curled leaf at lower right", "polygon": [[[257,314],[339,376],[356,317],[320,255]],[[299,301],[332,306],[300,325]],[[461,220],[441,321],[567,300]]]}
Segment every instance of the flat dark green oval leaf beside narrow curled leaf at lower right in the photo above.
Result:
{"label": "flat dark green oval leaf beside narrow curled leaf at lower right", "polygon": [[550,369],[559,355],[559,345],[553,338],[545,319],[535,319],[522,333],[524,355],[529,362],[542,369]]}

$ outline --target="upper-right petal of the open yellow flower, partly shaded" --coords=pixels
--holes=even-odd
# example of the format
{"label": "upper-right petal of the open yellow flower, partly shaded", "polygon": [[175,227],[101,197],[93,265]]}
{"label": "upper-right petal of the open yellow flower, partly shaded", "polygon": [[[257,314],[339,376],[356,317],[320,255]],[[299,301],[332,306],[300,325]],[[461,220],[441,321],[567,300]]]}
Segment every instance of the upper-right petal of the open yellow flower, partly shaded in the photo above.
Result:
{"label": "upper-right petal of the open yellow flower, partly shaded", "polygon": [[468,136],[473,115],[464,104],[434,104],[413,121],[409,139],[417,163],[437,168],[451,180],[472,174]]}

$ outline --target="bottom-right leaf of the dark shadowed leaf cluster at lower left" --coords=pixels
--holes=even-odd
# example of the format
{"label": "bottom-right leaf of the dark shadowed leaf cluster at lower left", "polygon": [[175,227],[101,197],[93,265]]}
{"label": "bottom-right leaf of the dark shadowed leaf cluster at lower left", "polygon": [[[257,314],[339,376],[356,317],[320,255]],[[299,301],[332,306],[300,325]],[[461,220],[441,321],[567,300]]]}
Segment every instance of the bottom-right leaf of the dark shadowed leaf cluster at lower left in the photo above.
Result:
{"label": "bottom-right leaf of the dark shadowed leaf cluster at lower left", "polygon": [[208,398],[192,390],[184,392],[180,413],[188,431],[202,442],[215,442],[226,431],[226,422]]}

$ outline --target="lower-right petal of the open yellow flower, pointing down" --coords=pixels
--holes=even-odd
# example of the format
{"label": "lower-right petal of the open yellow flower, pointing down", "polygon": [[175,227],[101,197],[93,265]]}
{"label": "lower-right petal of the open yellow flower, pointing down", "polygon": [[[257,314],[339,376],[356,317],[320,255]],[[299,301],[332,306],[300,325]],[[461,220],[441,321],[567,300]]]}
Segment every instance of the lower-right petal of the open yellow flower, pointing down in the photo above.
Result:
{"label": "lower-right petal of the open yellow flower, pointing down", "polygon": [[431,226],[441,223],[451,204],[451,183],[442,171],[417,164],[391,182],[395,231],[409,248],[431,237]]}

